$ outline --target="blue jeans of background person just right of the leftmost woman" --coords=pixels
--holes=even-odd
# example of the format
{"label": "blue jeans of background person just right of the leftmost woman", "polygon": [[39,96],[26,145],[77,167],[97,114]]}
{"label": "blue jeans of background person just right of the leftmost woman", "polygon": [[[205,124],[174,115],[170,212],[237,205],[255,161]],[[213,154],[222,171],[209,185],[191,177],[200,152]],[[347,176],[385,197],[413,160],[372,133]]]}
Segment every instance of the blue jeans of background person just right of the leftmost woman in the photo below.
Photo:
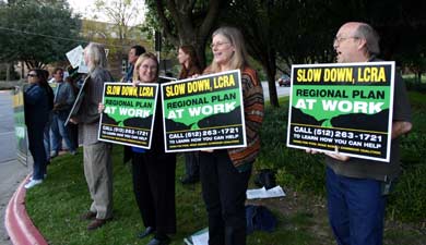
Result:
{"label": "blue jeans of background person just right of the leftmost woman", "polygon": [[51,151],[58,152],[61,148],[62,138],[66,140],[69,151],[75,151],[74,145],[71,143],[70,133],[63,125],[67,119],[61,119],[58,114],[54,113],[51,120]]}

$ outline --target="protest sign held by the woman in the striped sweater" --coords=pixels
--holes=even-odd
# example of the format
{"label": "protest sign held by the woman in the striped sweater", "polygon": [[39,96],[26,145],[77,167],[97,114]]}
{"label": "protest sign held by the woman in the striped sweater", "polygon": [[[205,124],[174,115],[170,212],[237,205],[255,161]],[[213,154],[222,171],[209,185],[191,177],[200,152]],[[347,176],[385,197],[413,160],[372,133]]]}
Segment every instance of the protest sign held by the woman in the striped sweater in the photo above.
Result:
{"label": "protest sign held by the woman in the striped sweater", "polygon": [[162,84],[165,150],[246,146],[239,70]]}

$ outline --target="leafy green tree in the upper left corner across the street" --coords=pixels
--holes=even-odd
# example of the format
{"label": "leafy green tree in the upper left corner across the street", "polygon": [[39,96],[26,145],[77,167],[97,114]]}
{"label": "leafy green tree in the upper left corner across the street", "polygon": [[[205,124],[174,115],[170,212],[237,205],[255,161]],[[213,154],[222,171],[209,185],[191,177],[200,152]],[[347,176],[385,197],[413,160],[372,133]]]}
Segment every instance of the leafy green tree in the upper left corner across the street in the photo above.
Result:
{"label": "leafy green tree in the upper left corner across the street", "polygon": [[15,0],[0,7],[0,60],[28,68],[64,60],[79,39],[81,21],[66,0]]}

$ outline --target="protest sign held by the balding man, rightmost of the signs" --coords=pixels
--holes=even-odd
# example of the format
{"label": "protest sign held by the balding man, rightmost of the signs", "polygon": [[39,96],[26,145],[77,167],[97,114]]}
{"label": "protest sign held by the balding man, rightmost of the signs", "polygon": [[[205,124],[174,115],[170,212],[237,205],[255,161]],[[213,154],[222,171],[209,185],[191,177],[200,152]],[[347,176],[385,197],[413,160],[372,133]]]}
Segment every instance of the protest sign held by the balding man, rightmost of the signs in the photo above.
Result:
{"label": "protest sign held by the balding man, rightmost of the signs", "polygon": [[292,66],[287,146],[389,161],[394,62]]}

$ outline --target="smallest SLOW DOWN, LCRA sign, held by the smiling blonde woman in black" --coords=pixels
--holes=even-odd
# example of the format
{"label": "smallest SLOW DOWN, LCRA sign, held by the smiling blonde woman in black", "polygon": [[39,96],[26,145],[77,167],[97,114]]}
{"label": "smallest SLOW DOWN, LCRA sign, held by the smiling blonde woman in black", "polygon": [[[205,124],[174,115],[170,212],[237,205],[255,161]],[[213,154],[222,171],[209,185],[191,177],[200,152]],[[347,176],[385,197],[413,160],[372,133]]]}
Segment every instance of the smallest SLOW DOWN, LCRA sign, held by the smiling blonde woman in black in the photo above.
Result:
{"label": "smallest SLOW DOWN, LCRA sign, held by the smiling blonde woman in black", "polygon": [[105,83],[98,139],[150,149],[157,90],[158,84]]}

